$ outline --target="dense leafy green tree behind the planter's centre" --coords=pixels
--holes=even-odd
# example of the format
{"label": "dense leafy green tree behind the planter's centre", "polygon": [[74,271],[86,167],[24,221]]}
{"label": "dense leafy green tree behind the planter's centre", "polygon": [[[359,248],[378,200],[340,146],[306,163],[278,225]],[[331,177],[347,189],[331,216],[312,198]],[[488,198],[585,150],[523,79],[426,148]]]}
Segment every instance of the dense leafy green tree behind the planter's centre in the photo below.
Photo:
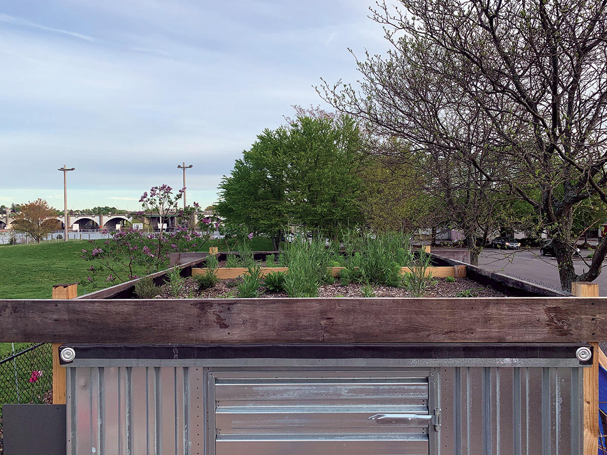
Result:
{"label": "dense leafy green tree behind the planter's centre", "polygon": [[274,248],[289,224],[334,235],[362,219],[358,126],[348,116],[298,111],[288,126],[264,130],[219,185],[217,212],[266,234]]}

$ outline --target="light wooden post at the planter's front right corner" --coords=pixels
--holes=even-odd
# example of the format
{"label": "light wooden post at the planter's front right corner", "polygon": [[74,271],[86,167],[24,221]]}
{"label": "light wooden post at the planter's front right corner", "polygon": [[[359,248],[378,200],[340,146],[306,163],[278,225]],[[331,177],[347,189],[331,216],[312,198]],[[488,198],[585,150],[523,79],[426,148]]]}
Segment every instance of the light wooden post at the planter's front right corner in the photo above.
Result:
{"label": "light wooden post at the planter's front right corner", "polygon": [[[599,297],[599,285],[586,281],[571,283],[575,297]],[[580,340],[582,341],[582,340]],[[599,451],[599,343],[592,345],[592,366],[584,368],[584,455]]]}

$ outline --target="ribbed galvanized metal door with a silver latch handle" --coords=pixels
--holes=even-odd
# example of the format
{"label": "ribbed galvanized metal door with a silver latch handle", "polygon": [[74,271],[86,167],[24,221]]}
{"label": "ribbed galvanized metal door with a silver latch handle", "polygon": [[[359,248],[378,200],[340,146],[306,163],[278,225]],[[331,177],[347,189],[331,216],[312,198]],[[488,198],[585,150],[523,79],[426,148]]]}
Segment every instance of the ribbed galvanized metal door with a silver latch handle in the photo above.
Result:
{"label": "ribbed galvanized metal door with a silver latch handle", "polygon": [[382,373],[211,375],[215,453],[429,454],[428,377]]}

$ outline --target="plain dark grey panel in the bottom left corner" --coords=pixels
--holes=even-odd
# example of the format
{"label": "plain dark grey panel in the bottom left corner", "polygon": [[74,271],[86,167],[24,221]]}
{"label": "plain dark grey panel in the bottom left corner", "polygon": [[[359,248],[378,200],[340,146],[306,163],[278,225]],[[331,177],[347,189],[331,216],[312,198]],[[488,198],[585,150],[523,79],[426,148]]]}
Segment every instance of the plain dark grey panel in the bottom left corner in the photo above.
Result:
{"label": "plain dark grey panel in the bottom left corner", "polygon": [[66,455],[66,405],[2,405],[4,455]]}

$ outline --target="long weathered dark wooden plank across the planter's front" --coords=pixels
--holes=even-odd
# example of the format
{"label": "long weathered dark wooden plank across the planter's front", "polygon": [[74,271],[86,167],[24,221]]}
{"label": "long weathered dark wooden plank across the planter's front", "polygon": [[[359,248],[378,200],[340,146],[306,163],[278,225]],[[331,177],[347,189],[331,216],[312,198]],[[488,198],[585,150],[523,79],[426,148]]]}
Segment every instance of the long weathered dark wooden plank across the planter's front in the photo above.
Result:
{"label": "long weathered dark wooden plank across the planter's front", "polygon": [[0,300],[0,342],[600,342],[607,298]]}

